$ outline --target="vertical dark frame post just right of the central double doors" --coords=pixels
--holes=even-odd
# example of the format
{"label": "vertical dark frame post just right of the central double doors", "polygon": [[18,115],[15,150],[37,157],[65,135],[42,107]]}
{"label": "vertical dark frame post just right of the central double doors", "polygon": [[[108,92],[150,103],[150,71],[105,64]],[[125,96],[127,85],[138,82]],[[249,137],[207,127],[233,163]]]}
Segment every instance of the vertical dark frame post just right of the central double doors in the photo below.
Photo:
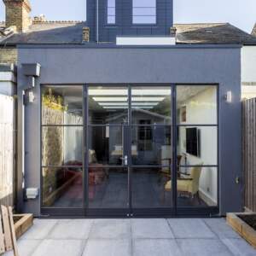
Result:
{"label": "vertical dark frame post just right of the central double doors", "polygon": [[176,84],[172,84],[172,201],[177,214],[177,104]]}

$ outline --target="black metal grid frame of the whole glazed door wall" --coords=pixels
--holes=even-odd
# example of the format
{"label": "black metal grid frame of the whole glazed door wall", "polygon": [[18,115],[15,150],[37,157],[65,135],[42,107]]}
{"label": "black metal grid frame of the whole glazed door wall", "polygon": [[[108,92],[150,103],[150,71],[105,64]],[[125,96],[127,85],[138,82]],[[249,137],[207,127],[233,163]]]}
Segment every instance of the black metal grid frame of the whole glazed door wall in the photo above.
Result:
{"label": "black metal grid frame of the whole glazed door wall", "polygon": [[[46,84],[41,84],[42,86]],[[47,84],[49,85],[49,84]],[[51,84],[52,86],[71,86],[71,84]],[[97,86],[99,84],[75,84],[82,86],[83,88],[83,118],[84,123],[83,125],[42,125],[42,93],[40,88],[40,209],[42,216],[56,216],[56,217],[95,217],[95,218],[101,218],[101,217],[108,217],[108,218],[117,218],[117,217],[181,217],[181,216],[204,216],[204,217],[211,217],[216,216],[219,213],[219,84],[108,84],[108,86],[115,87],[115,86],[124,86],[128,89],[128,145],[131,145],[131,127],[132,126],[147,126],[147,125],[131,125],[131,87],[136,86],[145,86],[145,87],[153,87],[153,86],[170,86],[170,89],[172,90],[172,96],[171,96],[171,111],[172,111],[172,124],[171,125],[154,125],[154,126],[170,126],[172,128],[172,165],[171,166],[150,166],[150,167],[170,167],[172,170],[172,207],[163,207],[163,208],[133,208],[132,207],[132,201],[131,201],[131,186],[132,186],[132,168],[140,168],[140,167],[148,167],[148,166],[133,166],[131,163],[131,147],[128,150],[126,145],[126,148],[124,147],[124,152],[127,152],[128,155],[128,165],[127,166],[103,166],[104,168],[108,167],[119,167],[119,168],[127,168],[128,170],[128,205],[127,208],[90,208],[88,204],[88,170],[89,170],[89,162],[88,162],[88,128],[90,126],[124,126],[124,125],[93,125],[88,124],[88,116],[89,116],[89,106],[88,106],[88,87],[89,86]],[[105,84],[101,84],[102,86],[105,86]],[[107,85],[107,84],[106,84]],[[203,125],[203,124],[177,124],[177,87],[178,86],[198,86],[198,85],[215,85],[217,88],[217,124],[210,124],[210,125]],[[43,188],[43,177],[42,177],[42,170],[44,166],[42,166],[42,127],[44,126],[80,126],[84,128],[83,132],[83,193],[84,193],[84,202],[82,208],[52,208],[52,207],[42,207],[43,206],[43,198],[42,198],[42,188]],[[152,126],[152,125],[148,125]],[[180,126],[215,126],[217,127],[217,165],[207,165],[202,167],[216,167],[217,168],[217,176],[218,176],[218,204],[216,207],[177,207],[177,127]],[[124,142],[123,142],[124,143]],[[56,167],[56,166],[48,166],[48,167]],[[74,166],[73,166],[74,167]],[[81,166],[79,166],[81,167]],[[179,167],[191,167],[191,166],[179,166]]]}

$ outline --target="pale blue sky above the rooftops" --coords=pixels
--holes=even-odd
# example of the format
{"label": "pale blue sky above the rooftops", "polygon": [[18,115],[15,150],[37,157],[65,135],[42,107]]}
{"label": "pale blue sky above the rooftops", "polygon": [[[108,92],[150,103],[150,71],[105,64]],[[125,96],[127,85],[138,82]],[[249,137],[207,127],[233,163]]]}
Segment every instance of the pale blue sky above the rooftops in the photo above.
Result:
{"label": "pale blue sky above the rooftops", "polygon": [[[32,16],[44,14],[48,20],[86,19],[86,0],[30,0],[30,2]],[[173,2],[175,23],[230,22],[246,32],[252,32],[256,23],[256,0],[173,0]],[[0,20],[4,20],[3,0],[0,0]]]}

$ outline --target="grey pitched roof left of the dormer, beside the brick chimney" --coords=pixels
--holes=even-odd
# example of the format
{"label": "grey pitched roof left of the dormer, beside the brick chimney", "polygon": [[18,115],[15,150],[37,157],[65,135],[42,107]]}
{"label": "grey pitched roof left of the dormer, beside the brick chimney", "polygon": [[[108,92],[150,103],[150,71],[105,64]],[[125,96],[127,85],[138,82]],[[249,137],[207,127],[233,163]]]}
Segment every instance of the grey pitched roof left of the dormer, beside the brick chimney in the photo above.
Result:
{"label": "grey pitched roof left of the dormer, beside the brick chimney", "polygon": [[28,32],[3,38],[2,44],[81,44],[84,21],[33,22]]}

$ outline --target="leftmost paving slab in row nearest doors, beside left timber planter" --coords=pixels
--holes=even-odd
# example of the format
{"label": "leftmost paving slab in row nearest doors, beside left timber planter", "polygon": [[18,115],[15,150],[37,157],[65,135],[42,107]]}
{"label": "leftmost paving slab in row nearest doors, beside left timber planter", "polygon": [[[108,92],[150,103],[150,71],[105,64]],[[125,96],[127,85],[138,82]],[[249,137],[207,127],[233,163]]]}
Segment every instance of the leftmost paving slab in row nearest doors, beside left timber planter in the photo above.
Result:
{"label": "leftmost paving slab in row nearest doors, beside left timber planter", "polygon": [[20,237],[20,239],[44,239],[49,235],[58,220],[56,219],[34,219],[32,227]]}

